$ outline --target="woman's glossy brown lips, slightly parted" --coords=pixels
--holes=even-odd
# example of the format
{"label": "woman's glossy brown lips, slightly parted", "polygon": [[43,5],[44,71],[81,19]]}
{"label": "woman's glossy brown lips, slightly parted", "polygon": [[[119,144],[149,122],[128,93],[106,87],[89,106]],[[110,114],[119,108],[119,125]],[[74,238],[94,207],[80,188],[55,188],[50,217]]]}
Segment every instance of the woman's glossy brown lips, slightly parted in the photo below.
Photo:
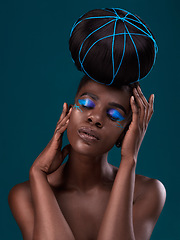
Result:
{"label": "woman's glossy brown lips, slightly parted", "polygon": [[[89,135],[88,135],[89,134]],[[78,129],[78,135],[86,141],[99,141],[99,134],[91,128],[81,127]]]}

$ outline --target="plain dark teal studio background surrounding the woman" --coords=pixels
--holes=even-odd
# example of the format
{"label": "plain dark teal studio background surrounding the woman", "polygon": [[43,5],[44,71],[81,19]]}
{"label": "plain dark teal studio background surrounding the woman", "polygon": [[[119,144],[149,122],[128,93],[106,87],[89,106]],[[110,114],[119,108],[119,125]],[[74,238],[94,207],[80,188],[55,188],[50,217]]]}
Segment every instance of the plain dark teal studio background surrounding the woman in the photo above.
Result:
{"label": "plain dark teal studio background surrounding the woman", "polygon": [[[159,179],[167,190],[151,239],[180,239],[178,1],[4,0],[0,2],[2,240],[22,239],[8,207],[8,193],[15,184],[28,180],[33,161],[53,135],[63,103],[73,102],[83,75],[68,50],[71,27],[86,11],[102,7],[120,7],[139,15],[156,37],[156,64],[141,82],[147,98],[155,94],[155,111],[136,173]],[[109,162],[119,166],[118,159],[120,151],[114,148]]]}

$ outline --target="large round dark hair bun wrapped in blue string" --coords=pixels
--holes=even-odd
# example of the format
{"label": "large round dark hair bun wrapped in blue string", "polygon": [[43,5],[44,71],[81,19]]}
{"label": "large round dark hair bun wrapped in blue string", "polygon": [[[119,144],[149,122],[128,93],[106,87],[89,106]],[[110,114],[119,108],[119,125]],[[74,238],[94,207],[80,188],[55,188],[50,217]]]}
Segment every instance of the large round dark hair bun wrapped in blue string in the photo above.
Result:
{"label": "large round dark hair bun wrapped in blue string", "polygon": [[91,10],[75,22],[69,49],[78,70],[97,82],[119,86],[147,76],[157,45],[140,17],[119,8],[105,8]]}

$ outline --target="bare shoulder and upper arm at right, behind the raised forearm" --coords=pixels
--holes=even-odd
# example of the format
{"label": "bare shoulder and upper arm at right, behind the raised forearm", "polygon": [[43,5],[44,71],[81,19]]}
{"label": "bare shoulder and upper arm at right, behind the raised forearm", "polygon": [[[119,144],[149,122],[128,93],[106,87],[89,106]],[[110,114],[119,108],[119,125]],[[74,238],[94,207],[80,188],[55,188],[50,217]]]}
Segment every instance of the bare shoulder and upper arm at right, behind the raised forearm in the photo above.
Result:
{"label": "bare shoulder and upper arm at right, behind the raised forearm", "polygon": [[133,206],[136,239],[150,239],[166,200],[163,183],[154,178],[136,175],[137,196]]}

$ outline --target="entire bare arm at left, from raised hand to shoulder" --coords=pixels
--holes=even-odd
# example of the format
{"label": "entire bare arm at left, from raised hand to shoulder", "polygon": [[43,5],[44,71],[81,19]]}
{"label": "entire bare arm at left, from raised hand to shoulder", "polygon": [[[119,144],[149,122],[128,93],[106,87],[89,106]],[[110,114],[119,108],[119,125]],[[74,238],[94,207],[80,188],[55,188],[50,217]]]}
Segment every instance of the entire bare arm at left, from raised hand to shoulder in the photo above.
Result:
{"label": "entire bare arm at left, from raised hand to shoulder", "polygon": [[61,147],[70,113],[65,104],[53,138],[30,169],[30,181],[16,185],[9,193],[9,205],[24,240],[74,240],[47,180],[68,154],[68,146],[62,151]]}

